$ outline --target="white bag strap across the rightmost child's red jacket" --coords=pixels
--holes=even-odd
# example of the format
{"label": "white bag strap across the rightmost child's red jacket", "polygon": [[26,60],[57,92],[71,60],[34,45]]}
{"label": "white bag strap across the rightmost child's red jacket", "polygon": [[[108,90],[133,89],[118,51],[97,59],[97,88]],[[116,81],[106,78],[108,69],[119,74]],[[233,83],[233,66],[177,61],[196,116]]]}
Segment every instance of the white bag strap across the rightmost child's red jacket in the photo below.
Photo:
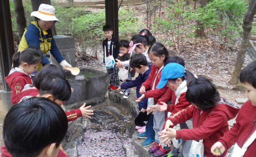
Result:
{"label": "white bag strap across the rightmost child's red jacket", "polygon": [[231,157],[243,157],[244,153],[247,151],[247,148],[252,144],[256,139],[256,131],[250,136],[250,138],[244,143],[243,147],[240,148],[237,143],[234,145]]}

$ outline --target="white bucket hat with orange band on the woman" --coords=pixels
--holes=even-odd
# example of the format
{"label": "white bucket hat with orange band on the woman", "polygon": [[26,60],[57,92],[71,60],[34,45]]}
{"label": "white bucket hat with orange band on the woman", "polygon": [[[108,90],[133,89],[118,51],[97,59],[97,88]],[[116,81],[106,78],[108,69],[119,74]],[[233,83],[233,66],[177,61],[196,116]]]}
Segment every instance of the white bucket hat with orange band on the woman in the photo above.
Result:
{"label": "white bucket hat with orange band on the woman", "polygon": [[35,16],[44,21],[59,21],[55,17],[55,8],[49,4],[40,4],[38,11],[32,12],[31,16]]}

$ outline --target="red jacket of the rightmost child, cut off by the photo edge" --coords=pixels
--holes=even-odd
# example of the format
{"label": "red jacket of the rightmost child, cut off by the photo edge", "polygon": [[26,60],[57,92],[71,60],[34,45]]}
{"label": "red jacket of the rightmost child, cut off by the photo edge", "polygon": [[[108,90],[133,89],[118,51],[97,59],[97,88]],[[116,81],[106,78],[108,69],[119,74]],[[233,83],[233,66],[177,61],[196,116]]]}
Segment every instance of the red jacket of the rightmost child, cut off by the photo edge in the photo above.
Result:
{"label": "red jacket of the rightmost child, cut off by the photo edge", "polygon": [[[223,137],[220,138],[221,142],[226,150],[230,148],[233,144],[241,148],[247,139],[253,134],[256,130],[256,106],[253,106],[251,101],[248,100],[239,110],[239,113],[236,117],[236,123],[233,124],[233,127],[230,131],[226,132]],[[247,148],[247,151],[244,154],[244,157],[255,157],[256,155],[256,140]]]}

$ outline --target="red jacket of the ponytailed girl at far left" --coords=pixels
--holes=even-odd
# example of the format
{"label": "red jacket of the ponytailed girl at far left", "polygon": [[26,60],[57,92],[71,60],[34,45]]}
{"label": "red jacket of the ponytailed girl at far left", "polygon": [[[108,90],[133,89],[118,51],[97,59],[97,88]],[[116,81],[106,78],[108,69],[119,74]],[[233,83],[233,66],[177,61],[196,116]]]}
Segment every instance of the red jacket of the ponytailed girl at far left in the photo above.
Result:
{"label": "red jacket of the ponytailed girl at far left", "polygon": [[[17,104],[17,100],[15,99],[16,95],[19,94],[25,84],[32,84],[32,80],[26,73],[15,71],[16,68],[12,68],[9,75],[6,76],[6,83],[12,90],[11,93],[11,102],[13,105]],[[13,71],[13,72],[12,72]]]}

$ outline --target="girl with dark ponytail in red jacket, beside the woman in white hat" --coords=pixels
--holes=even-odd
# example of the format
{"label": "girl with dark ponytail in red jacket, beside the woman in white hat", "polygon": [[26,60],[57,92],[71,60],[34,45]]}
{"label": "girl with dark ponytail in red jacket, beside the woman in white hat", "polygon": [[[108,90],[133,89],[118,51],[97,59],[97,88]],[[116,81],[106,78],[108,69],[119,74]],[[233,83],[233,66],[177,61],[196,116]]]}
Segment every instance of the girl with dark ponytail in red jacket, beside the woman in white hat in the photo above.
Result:
{"label": "girl with dark ponytail in red jacket, beside the woman in white hat", "polygon": [[23,90],[25,84],[32,84],[30,75],[34,73],[42,58],[41,51],[34,47],[16,52],[12,56],[13,68],[5,79],[12,90],[11,102],[13,105],[17,104],[15,98]]}

